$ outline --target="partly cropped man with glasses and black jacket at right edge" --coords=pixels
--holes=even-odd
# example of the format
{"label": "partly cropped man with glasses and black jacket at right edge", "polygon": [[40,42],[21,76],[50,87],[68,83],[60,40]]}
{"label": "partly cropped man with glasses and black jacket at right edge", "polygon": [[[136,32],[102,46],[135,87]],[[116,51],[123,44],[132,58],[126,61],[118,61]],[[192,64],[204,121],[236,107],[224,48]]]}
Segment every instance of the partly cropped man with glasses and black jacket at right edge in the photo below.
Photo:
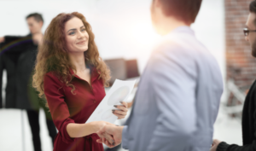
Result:
{"label": "partly cropped man with glasses and black jacket at right edge", "polygon": [[[249,5],[249,15],[246,22],[246,28],[243,32],[245,39],[249,42],[252,48],[252,55],[256,57],[256,1],[250,3]],[[215,139],[212,143],[211,151],[254,151],[256,150],[256,80],[251,86],[247,93],[246,100],[244,102],[244,107],[242,111],[242,142],[243,146],[238,146],[236,144],[227,144],[226,142],[220,142]]]}

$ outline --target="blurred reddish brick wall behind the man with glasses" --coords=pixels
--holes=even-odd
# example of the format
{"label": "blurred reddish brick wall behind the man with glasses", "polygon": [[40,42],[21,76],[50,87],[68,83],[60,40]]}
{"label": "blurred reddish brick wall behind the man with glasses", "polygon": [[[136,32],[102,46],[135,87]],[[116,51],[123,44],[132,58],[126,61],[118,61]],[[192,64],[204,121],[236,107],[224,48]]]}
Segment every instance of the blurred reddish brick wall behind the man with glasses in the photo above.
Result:
{"label": "blurred reddish brick wall behind the man with glasses", "polygon": [[224,1],[227,78],[234,78],[241,90],[247,90],[256,78],[256,60],[242,32],[251,1]]}

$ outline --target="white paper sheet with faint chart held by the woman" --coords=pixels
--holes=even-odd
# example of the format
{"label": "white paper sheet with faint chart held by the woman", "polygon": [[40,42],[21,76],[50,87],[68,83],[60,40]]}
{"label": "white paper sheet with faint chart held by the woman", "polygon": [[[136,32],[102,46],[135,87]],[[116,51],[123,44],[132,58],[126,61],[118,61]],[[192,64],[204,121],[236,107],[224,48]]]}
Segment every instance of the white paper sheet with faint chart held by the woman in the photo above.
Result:
{"label": "white paper sheet with faint chart held by the woman", "polygon": [[116,79],[108,90],[108,94],[103,98],[102,102],[96,107],[94,112],[90,115],[90,118],[85,123],[93,121],[107,121],[114,123],[117,116],[112,113],[112,109],[118,109],[113,105],[121,105],[120,102],[125,102],[128,96],[131,95],[131,90],[134,88],[136,80],[122,81]]}

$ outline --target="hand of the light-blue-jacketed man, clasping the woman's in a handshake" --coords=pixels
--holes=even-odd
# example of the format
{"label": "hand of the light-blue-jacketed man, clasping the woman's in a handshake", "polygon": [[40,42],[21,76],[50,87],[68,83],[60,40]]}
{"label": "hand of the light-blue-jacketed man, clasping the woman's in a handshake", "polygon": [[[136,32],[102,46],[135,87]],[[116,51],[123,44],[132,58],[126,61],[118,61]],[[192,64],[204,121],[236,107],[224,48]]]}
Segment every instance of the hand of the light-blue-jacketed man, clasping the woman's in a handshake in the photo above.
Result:
{"label": "hand of the light-blue-jacketed man, clasping the woman's in a handshake", "polygon": [[[123,129],[124,126],[105,125],[100,131],[96,132],[96,134],[101,137],[101,139],[96,140],[96,142],[105,143],[108,148],[118,146],[122,142]],[[113,136],[113,143],[106,140],[106,134]]]}

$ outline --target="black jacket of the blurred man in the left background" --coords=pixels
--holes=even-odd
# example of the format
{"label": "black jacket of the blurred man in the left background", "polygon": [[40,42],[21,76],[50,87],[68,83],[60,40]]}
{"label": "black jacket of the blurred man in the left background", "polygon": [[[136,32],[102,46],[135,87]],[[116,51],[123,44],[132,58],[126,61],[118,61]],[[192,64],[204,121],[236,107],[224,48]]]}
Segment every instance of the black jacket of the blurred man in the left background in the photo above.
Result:
{"label": "black jacket of the blurred man in the left background", "polygon": [[[4,107],[38,109],[38,92],[32,88],[37,49],[38,45],[33,44],[31,35],[6,36],[5,42],[0,44],[0,79],[3,79],[3,69],[7,72]],[[0,90],[0,107],[3,107],[2,99]]]}

